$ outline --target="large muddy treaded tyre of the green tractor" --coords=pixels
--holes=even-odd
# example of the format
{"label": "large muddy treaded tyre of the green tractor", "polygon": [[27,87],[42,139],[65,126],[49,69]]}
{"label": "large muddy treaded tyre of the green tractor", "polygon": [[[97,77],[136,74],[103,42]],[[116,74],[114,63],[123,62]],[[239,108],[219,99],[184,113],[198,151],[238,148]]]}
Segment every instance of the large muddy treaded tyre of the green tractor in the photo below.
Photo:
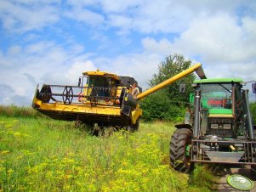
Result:
{"label": "large muddy treaded tyre of the green tractor", "polygon": [[179,172],[190,172],[191,164],[191,130],[187,128],[177,129],[170,143],[171,166]]}

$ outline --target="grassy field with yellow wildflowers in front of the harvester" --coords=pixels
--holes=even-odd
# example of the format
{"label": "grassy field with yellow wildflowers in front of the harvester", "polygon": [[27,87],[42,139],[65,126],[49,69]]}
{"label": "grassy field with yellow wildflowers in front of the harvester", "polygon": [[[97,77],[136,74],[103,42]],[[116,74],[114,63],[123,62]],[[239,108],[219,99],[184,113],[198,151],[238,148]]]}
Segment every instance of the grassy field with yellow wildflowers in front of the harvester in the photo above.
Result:
{"label": "grassy field with yellow wildflowers in front of the harvester", "polygon": [[213,175],[169,167],[174,125],[91,136],[74,122],[0,116],[0,191],[210,191]]}

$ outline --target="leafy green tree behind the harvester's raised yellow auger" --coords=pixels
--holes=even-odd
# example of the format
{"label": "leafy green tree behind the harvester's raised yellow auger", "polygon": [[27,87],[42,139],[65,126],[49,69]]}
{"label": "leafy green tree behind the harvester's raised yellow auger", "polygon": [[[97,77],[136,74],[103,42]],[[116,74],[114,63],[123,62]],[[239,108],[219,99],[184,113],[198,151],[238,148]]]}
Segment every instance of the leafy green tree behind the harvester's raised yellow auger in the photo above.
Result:
{"label": "leafy green tree behind the harvester's raised yellow auger", "polygon": [[[170,55],[158,65],[158,72],[153,75],[148,84],[150,87],[154,87],[189,67],[191,67],[191,60],[187,60],[178,54]],[[168,119],[179,121],[180,117],[184,116],[185,104],[188,103],[189,95],[192,92],[191,83],[195,78],[196,76],[193,74],[185,76],[167,88],[148,96],[141,103],[144,118],[146,120]],[[179,93],[180,83],[185,84],[185,93]]]}

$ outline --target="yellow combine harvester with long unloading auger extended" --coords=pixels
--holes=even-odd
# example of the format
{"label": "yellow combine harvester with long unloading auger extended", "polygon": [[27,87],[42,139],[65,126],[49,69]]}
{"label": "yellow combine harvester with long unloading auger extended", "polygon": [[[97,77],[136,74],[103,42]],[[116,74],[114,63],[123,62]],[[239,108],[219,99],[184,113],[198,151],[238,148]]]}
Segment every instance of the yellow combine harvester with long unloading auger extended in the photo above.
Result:
{"label": "yellow combine harvester with long unloading auger extended", "polygon": [[202,65],[196,64],[169,78],[145,92],[139,88],[139,95],[134,99],[132,86],[137,83],[133,77],[117,76],[104,71],[83,72],[78,86],[46,85],[39,91],[38,85],[32,107],[43,114],[58,120],[82,121],[89,126],[98,127],[139,127],[139,99],[167,87],[172,82],[196,71],[201,78],[206,78]]}

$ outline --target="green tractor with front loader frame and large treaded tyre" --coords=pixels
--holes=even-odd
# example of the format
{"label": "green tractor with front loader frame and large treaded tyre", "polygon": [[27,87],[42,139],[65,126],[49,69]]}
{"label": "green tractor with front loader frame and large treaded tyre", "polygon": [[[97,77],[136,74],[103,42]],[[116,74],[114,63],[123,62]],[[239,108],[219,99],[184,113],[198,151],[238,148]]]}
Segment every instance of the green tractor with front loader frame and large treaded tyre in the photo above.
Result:
{"label": "green tractor with front loader frame and large treaded tyre", "polygon": [[175,126],[170,143],[174,169],[190,172],[196,162],[240,164],[251,165],[255,175],[256,140],[244,85],[237,78],[202,79],[192,84],[192,107],[185,123]]}

